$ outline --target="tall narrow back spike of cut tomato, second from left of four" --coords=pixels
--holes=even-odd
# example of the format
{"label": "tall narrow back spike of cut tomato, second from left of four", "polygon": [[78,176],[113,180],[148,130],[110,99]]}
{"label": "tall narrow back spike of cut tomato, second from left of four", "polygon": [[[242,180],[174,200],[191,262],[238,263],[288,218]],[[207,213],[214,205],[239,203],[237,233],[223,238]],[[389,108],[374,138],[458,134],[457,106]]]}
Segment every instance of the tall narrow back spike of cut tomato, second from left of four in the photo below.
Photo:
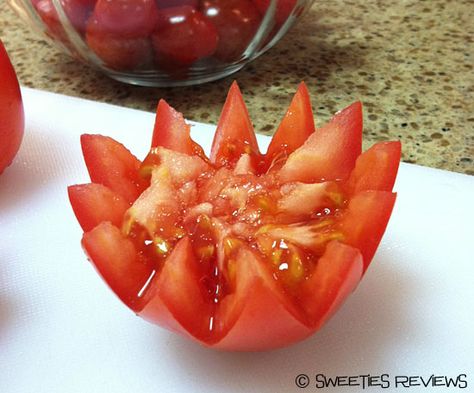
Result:
{"label": "tall narrow back spike of cut tomato, second from left of four", "polygon": [[237,82],[232,83],[212,142],[210,160],[234,167],[244,153],[259,159],[257,138]]}

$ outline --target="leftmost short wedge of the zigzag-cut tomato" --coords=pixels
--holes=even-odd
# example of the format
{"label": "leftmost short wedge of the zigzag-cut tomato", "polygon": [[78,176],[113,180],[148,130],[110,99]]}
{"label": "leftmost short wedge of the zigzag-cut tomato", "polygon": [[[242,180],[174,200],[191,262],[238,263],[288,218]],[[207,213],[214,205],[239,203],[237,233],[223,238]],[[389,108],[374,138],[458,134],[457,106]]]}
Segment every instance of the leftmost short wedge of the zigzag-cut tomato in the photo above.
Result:
{"label": "leftmost short wedge of the zigzag-cut tomato", "polygon": [[102,184],[76,184],[67,190],[74,214],[84,232],[95,228],[102,221],[110,221],[120,227],[130,207],[125,198]]}

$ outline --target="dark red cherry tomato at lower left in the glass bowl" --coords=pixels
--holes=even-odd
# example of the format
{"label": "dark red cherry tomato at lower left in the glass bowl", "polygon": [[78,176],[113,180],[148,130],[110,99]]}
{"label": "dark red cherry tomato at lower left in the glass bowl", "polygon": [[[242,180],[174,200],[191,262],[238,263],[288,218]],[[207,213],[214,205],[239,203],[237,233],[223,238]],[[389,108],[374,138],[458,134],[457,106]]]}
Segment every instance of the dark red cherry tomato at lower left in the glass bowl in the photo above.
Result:
{"label": "dark red cherry tomato at lower left in the glass bowl", "polygon": [[148,37],[105,33],[95,17],[91,17],[88,22],[86,41],[89,48],[111,69],[127,71],[153,66],[153,48]]}

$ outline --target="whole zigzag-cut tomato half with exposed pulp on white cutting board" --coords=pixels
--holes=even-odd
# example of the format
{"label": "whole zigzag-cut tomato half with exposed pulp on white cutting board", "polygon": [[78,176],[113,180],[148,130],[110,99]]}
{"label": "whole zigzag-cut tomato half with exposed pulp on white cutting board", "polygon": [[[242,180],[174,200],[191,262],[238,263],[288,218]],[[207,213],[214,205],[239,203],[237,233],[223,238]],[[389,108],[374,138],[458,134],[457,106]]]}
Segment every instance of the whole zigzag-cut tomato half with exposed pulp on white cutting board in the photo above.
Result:
{"label": "whole zigzag-cut tomato half with exposed pulp on white cutting board", "polygon": [[152,147],[83,135],[92,183],[69,187],[83,247],[135,313],[204,345],[301,340],[367,269],[395,194],[400,143],[361,152],[362,107],[316,129],[302,83],[266,154],[234,83],[208,157],[160,101]]}

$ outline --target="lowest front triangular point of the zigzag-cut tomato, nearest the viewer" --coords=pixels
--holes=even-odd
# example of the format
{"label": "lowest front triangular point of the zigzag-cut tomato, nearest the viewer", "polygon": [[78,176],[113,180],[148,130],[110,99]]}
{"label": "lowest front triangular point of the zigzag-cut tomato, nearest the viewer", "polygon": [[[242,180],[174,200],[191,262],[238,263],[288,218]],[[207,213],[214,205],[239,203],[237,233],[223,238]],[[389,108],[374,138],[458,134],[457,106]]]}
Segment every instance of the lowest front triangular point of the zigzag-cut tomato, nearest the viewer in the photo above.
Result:
{"label": "lowest front triangular point of the zigzag-cut tomato, nearest the viewer", "polygon": [[236,287],[217,308],[214,347],[256,351],[289,345],[313,330],[272,277],[268,266],[248,248],[237,258]]}

